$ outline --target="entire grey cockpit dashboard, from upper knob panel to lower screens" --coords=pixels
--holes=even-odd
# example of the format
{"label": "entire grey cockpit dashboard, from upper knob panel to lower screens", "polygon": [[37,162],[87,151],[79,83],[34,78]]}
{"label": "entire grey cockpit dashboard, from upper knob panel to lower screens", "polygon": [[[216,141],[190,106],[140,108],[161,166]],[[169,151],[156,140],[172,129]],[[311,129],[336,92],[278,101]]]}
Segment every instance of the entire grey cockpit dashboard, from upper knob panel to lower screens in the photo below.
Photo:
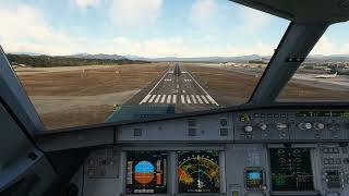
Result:
{"label": "entire grey cockpit dashboard, from upper knob panel to lower screens", "polygon": [[72,183],[95,195],[349,195],[349,110],[246,110],[115,128]]}

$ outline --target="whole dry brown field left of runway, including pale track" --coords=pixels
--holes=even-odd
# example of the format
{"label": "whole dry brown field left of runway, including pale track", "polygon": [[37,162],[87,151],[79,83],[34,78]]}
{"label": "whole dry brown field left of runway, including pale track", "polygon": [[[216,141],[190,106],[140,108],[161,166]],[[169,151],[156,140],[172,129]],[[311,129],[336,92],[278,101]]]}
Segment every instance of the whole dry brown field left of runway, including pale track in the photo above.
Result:
{"label": "whole dry brown field left of runway, including pale track", "polygon": [[166,69],[161,63],[31,69],[17,75],[50,130],[104,122],[115,105],[124,103]]}

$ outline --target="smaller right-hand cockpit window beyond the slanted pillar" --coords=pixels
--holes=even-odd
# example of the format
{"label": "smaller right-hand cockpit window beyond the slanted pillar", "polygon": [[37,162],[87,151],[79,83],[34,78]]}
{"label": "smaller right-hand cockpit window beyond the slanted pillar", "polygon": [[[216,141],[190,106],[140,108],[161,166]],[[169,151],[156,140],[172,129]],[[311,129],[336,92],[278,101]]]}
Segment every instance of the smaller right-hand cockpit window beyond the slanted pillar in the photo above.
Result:
{"label": "smaller right-hand cockpit window beyond the slanted pillar", "polygon": [[[347,101],[349,98],[349,23],[329,26],[300,65],[279,101]],[[344,41],[345,40],[345,41]]]}

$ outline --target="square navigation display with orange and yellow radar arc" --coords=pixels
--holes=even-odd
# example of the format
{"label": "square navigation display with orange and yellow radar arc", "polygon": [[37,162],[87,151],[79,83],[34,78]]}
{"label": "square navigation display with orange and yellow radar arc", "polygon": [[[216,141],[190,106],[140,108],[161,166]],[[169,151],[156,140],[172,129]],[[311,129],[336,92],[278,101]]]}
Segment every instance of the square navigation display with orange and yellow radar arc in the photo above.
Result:
{"label": "square navigation display with orange and yellow radar arc", "polygon": [[219,152],[179,151],[179,193],[219,193]]}

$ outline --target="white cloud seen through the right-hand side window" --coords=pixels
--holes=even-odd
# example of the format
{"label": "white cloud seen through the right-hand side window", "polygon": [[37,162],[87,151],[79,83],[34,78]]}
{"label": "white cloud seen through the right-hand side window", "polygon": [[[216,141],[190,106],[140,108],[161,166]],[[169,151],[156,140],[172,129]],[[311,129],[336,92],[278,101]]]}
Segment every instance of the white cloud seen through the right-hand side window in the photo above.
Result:
{"label": "white cloud seen through the right-hand side window", "polygon": [[349,53],[349,44],[335,44],[329,37],[324,35],[315,47],[313,48],[311,54],[348,54]]}

